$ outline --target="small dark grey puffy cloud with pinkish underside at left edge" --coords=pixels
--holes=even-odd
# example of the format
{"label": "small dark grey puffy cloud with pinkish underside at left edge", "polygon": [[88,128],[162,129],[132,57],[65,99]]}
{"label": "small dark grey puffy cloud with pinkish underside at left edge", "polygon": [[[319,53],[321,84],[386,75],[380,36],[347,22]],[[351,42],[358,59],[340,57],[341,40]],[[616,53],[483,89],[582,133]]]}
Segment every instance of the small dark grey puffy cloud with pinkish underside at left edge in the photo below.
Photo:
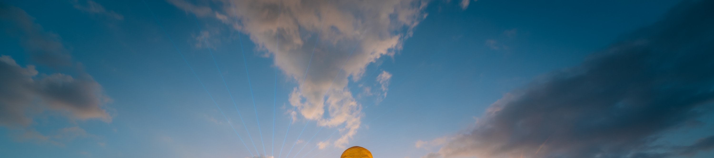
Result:
{"label": "small dark grey puffy cloud with pinkish underside at left edge", "polygon": [[53,110],[71,119],[111,117],[102,109],[109,100],[89,76],[39,75],[34,65],[22,68],[10,56],[0,56],[0,125],[27,126],[31,110]]}

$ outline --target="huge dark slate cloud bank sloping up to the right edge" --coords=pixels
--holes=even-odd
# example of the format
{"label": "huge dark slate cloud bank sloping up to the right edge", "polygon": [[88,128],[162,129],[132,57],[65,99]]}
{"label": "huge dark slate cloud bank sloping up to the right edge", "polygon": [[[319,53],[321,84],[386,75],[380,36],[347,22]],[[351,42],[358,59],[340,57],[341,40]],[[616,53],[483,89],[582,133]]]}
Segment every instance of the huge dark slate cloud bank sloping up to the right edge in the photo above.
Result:
{"label": "huge dark slate cloud bank sloping up to the right edge", "polygon": [[714,107],[714,1],[662,21],[494,102],[476,125],[424,157],[683,157],[714,137],[660,139]]}

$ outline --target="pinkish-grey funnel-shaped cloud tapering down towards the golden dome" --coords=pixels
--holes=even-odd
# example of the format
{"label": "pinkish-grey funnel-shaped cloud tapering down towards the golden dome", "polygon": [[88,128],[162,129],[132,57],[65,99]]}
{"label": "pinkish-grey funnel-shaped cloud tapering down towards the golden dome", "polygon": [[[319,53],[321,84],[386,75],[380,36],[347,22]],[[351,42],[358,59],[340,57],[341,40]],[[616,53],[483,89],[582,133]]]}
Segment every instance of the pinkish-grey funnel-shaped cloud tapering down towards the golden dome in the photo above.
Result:
{"label": "pinkish-grey funnel-shaped cloud tapering down towards the golden dome", "polygon": [[427,4],[421,0],[169,2],[248,34],[298,83],[289,101],[298,107],[299,115],[321,126],[346,125],[334,142],[336,147],[347,144],[361,124],[361,105],[347,88],[350,79],[360,80],[368,64],[401,50],[404,39],[426,17]]}

